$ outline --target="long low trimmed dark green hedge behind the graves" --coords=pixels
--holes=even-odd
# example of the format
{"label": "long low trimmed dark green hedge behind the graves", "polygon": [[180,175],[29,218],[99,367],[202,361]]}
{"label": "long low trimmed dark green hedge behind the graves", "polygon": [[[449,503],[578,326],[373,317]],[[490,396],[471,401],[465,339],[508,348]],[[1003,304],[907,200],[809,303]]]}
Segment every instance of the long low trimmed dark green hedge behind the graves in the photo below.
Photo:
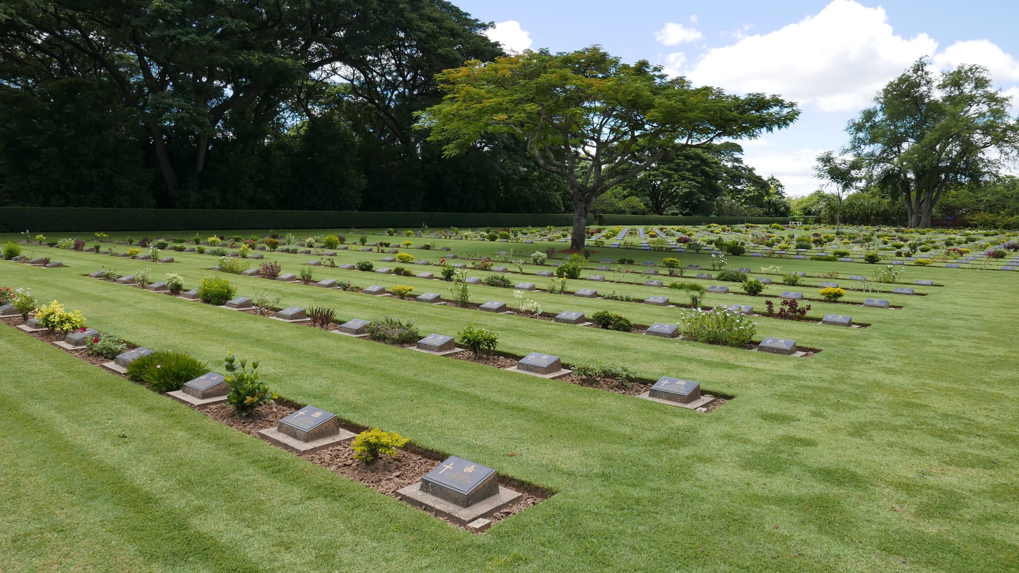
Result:
{"label": "long low trimmed dark green hedge behind the graves", "polygon": [[[604,225],[786,223],[786,217],[667,217],[602,215]],[[207,209],[105,209],[0,207],[0,232],[227,230],[255,228],[420,228],[573,226],[572,213],[417,213],[370,211],[255,211]],[[594,224],[589,219],[588,224]]]}

